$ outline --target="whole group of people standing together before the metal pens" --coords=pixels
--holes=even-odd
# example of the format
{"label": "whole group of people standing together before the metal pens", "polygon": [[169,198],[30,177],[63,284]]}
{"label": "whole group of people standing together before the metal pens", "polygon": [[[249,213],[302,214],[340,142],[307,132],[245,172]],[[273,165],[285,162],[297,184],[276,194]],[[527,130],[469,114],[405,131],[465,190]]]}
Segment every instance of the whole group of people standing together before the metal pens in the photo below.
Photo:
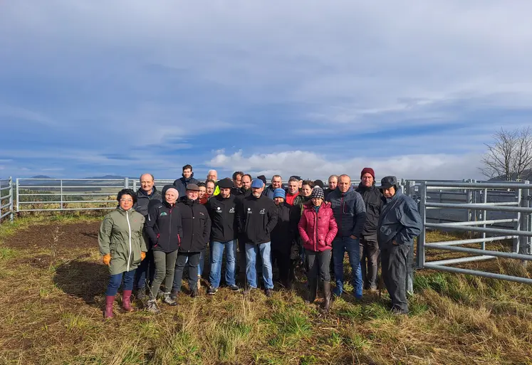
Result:
{"label": "whole group of people standing together before the metal pens", "polygon": [[[321,283],[323,309],[328,311],[331,281],[332,295],[343,294],[347,252],[356,298],[363,296],[363,289],[377,290],[381,265],[392,312],[408,312],[407,256],[422,222],[417,204],[402,194],[395,176],[386,176],[376,186],[375,172],[365,168],[358,187],[346,174],[330,176],[327,187],[300,176],[291,176],[285,187],[279,175],[267,185],[265,176],[253,179],[242,171],[232,179],[217,178],[217,171],[211,170],[200,182],[192,166],[185,165],[182,177],[161,192],[154,177],[143,174],[138,191],[118,193],[118,207],[105,216],[98,236],[110,271],[105,318],[113,317],[122,281],[126,311],[132,311],[134,289],[137,299],[147,299],[150,312],[160,312],[158,298],[177,305],[186,267],[190,295],[197,297],[207,249],[209,295],[219,290],[225,253],[224,280],[230,290],[256,290],[260,276],[266,296],[271,296],[274,265],[280,284],[292,289],[299,265],[307,277],[306,299],[315,300]],[[237,270],[245,270],[244,285],[238,285]]]}

